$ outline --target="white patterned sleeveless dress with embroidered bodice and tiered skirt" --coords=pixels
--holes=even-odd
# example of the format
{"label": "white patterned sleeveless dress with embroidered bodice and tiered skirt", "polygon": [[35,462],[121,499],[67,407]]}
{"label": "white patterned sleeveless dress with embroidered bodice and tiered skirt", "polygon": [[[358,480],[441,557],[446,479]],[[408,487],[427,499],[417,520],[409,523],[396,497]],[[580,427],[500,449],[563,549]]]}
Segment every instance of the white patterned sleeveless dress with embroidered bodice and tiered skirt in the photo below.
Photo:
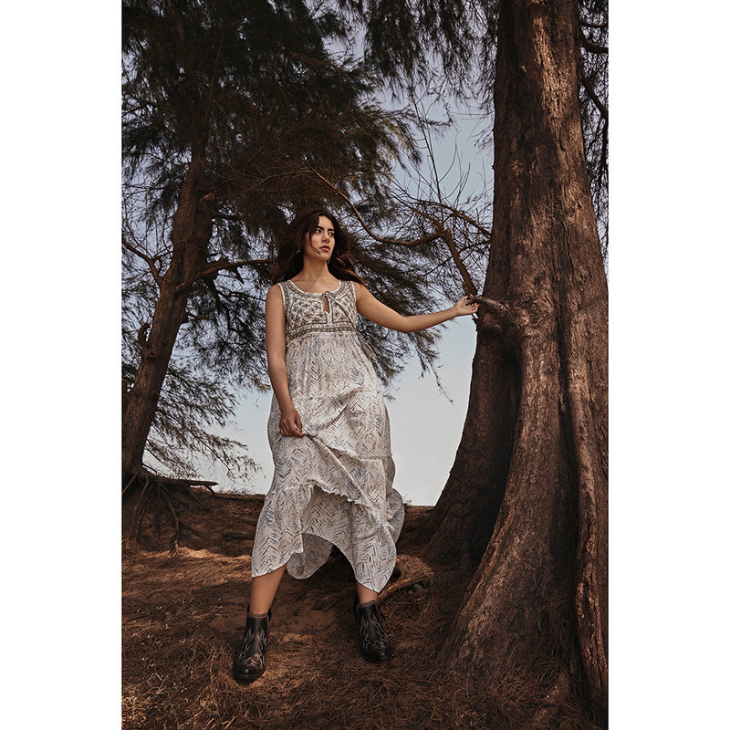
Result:
{"label": "white patterned sleeveless dress with embroidered bodice and tiered skirt", "polygon": [[304,436],[282,436],[274,396],[268,420],[274,477],[256,526],[251,575],[286,563],[294,578],[308,578],[335,545],[355,579],[380,592],[395,566],[404,511],[392,488],[388,412],[355,329],[354,284],[340,281],[323,294],[291,281],[277,286],[289,393]]}

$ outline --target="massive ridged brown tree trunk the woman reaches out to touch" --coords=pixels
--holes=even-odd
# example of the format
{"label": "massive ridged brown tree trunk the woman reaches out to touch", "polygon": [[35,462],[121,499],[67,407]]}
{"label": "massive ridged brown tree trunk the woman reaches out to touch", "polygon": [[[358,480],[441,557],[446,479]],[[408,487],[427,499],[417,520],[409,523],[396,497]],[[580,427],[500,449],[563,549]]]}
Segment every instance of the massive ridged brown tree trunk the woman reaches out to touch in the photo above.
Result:
{"label": "massive ridged brown tree trunk the woman reaches out to touch", "polygon": [[502,2],[494,207],[469,410],[429,546],[483,555],[443,657],[479,681],[557,657],[604,709],[608,291],[576,0]]}

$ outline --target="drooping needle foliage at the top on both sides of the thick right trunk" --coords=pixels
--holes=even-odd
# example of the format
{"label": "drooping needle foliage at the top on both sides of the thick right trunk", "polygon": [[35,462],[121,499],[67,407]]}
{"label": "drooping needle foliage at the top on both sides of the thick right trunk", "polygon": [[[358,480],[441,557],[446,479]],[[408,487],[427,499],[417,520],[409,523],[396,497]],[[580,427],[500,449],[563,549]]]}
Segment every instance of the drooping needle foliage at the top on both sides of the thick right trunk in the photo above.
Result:
{"label": "drooping needle foliage at the top on both sides of the thick right trunk", "polygon": [[[493,108],[499,0],[337,0],[365,37],[370,67],[399,89]],[[580,110],[593,206],[608,253],[608,0],[582,0],[576,39],[582,62]],[[491,125],[490,125],[491,126]],[[483,142],[489,144],[491,132]]]}

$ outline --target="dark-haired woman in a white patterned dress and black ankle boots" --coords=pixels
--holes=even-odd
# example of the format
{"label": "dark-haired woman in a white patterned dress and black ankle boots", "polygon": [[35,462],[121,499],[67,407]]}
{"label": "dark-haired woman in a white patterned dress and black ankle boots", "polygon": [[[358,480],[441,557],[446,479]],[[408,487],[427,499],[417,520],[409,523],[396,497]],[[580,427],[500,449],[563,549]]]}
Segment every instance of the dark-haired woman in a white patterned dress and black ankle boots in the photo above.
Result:
{"label": "dark-haired woman in a white patterned dress and black ankle boots", "polygon": [[401,332],[473,314],[462,298],[433,314],[402,317],[373,297],[354,271],[348,235],[323,210],[298,214],[284,235],[266,296],[266,357],[274,390],[268,437],[274,478],[256,527],[238,682],[266,668],[271,604],[287,568],[298,579],[327,560],[332,545],[353,568],[360,652],[392,656],[375,600],[395,566],[403,524],[392,488],[391,433],[358,313]]}

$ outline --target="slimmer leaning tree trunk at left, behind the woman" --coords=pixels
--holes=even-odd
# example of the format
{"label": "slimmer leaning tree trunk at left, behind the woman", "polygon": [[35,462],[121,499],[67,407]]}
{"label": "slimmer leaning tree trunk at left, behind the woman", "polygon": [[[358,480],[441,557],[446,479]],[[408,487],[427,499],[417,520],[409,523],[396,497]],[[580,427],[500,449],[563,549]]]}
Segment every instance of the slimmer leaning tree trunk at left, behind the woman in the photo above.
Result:
{"label": "slimmer leaning tree trunk at left, behind the woman", "polygon": [[[123,399],[121,453],[124,480],[142,471],[142,458],[178,332],[186,319],[189,283],[203,270],[213,218],[202,203],[204,164],[193,156],[172,216],[172,259],[159,281],[151,328],[142,339],[140,367]],[[188,285],[188,286],[186,286]],[[144,330],[141,330],[143,332]]]}

